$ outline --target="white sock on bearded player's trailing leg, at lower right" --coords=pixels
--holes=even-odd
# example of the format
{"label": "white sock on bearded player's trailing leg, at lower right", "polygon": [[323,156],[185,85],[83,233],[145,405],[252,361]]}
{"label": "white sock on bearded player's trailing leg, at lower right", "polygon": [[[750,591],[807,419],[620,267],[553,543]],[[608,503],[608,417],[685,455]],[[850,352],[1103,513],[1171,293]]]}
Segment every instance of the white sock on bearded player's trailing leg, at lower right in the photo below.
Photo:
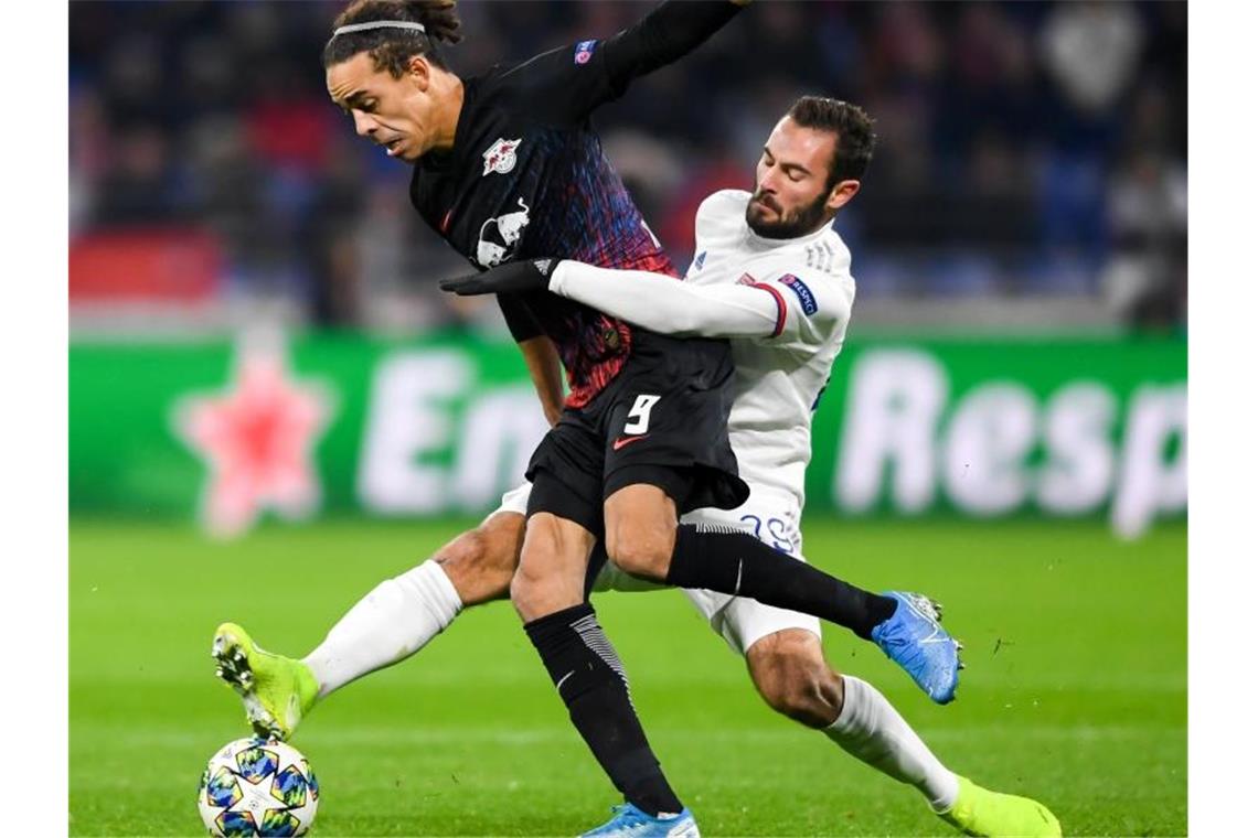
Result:
{"label": "white sock on bearded player's trailing leg, at lower right", "polygon": [[887,776],[926,795],[935,812],[956,802],[956,774],[944,768],[908,722],[873,686],[843,677],[843,710],[825,735],[839,748]]}

